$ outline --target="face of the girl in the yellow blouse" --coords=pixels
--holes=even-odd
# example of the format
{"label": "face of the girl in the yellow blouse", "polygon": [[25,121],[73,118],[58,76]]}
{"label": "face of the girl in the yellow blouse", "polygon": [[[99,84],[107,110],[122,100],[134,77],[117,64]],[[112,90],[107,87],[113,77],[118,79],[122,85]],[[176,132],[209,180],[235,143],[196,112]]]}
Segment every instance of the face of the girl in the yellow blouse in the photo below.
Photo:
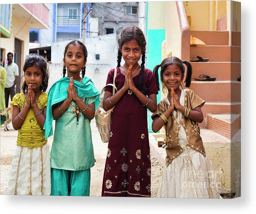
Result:
{"label": "face of the girl in the yellow blouse", "polygon": [[25,82],[27,86],[31,84],[32,89],[40,89],[43,81],[42,71],[40,68],[31,66],[27,67],[25,71]]}

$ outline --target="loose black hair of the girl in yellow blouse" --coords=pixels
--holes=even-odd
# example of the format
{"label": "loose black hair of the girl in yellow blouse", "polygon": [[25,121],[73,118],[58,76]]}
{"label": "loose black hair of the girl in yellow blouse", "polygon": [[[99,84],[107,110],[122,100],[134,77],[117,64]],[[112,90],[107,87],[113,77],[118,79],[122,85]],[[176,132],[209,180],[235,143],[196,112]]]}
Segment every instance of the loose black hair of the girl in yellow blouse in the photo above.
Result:
{"label": "loose black hair of the girl in yellow blouse", "polygon": [[[24,62],[24,66],[23,66],[24,74],[27,67],[32,67],[32,66],[41,69],[43,77],[42,77],[42,83],[40,85],[40,91],[45,92],[48,87],[48,80],[49,80],[49,67],[47,62],[45,61],[45,58],[35,53],[29,54]],[[22,85],[22,91],[24,94],[27,91],[27,88],[28,86],[26,84],[26,81],[24,81]]]}

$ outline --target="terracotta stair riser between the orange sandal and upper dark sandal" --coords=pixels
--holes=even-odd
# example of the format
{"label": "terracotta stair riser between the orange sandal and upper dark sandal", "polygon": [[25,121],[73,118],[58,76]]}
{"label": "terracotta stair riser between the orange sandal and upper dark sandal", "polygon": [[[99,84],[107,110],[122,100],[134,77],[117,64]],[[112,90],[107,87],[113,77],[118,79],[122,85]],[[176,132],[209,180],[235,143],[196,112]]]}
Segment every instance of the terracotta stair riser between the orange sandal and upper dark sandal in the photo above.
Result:
{"label": "terracotta stair riser between the orange sandal and upper dark sandal", "polygon": [[190,58],[193,56],[209,58],[209,62],[241,62],[241,46],[190,46]]}

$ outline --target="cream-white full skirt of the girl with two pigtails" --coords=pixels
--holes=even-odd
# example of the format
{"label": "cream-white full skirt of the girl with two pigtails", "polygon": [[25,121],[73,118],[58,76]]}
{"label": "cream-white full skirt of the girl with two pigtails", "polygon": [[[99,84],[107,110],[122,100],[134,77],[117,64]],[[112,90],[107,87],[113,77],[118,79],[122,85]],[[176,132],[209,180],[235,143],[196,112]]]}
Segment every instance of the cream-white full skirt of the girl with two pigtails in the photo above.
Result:
{"label": "cream-white full skirt of the girl with two pigtails", "polygon": [[221,198],[211,160],[186,147],[168,167],[164,167],[156,197]]}

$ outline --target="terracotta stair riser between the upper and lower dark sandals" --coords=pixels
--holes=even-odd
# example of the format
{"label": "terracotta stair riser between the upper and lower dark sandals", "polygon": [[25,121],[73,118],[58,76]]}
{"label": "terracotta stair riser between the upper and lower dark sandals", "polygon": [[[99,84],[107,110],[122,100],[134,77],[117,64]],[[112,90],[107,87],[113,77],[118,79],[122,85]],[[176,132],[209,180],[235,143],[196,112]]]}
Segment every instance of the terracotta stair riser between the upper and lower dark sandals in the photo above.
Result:
{"label": "terracotta stair riser between the upper and lower dark sandals", "polygon": [[216,80],[234,80],[241,76],[241,63],[237,62],[191,62],[192,80],[200,74],[216,77]]}

